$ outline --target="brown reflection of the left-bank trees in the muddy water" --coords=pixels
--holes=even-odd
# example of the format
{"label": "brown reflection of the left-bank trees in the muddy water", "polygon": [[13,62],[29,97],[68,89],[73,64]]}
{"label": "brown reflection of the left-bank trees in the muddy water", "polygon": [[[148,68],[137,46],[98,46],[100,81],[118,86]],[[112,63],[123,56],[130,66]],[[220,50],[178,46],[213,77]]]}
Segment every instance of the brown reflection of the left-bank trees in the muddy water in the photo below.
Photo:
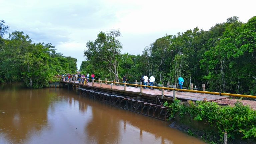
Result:
{"label": "brown reflection of the left-bank trees in the muddy water", "polygon": [[0,90],[0,133],[11,143],[24,143],[47,125],[52,94],[46,89],[3,88],[5,90]]}

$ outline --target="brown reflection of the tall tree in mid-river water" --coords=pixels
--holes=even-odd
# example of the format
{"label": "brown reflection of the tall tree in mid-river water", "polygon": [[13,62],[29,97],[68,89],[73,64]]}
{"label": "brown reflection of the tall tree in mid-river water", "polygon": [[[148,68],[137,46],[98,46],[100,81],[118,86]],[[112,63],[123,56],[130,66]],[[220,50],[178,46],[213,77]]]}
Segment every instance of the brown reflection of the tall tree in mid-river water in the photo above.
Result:
{"label": "brown reflection of the tall tree in mid-river water", "polygon": [[101,105],[97,106],[95,102],[89,99],[88,101],[94,103],[92,119],[85,127],[88,141],[98,144],[115,143],[116,140],[119,140],[120,135],[120,119],[115,116],[116,110],[99,102],[98,104]]}

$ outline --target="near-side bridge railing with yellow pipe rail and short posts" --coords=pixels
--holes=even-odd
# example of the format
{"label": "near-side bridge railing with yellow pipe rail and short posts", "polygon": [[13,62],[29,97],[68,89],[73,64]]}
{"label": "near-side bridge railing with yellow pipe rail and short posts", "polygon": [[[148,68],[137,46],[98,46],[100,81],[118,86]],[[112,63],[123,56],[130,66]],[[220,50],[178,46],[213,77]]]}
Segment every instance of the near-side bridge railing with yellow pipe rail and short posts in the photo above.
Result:
{"label": "near-side bridge railing with yellow pipe rail and short posts", "polygon": [[[57,77],[57,76],[55,76]],[[59,76],[61,77],[60,81],[66,81],[66,77],[68,76]],[[149,85],[143,85],[143,83],[140,82],[140,84],[134,84],[134,83],[122,83],[122,82],[114,82],[114,81],[104,81],[104,80],[97,80],[97,79],[90,79],[90,78],[84,78],[84,77],[77,77],[77,76],[70,76],[72,78],[72,80],[70,81],[70,79],[68,78],[67,79],[67,82],[72,82],[72,83],[76,83],[76,81],[78,81],[78,83],[80,84],[84,84],[84,85],[87,85],[87,82],[88,80],[91,80],[92,81],[92,86],[94,84],[94,81],[98,81],[98,83],[101,83],[101,84],[109,84],[109,85],[112,85],[112,84],[121,84],[123,85],[124,87],[126,87],[127,85],[129,86],[137,86],[137,87],[140,87],[140,89],[142,89],[142,87],[148,87],[148,88],[156,88],[156,89],[161,89],[162,91],[163,90],[172,90],[172,91],[186,91],[186,92],[196,92],[196,93],[204,93],[204,94],[213,94],[213,95],[220,95],[220,96],[235,96],[235,97],[248,97],[248,98],[255,98],[256,99],[256,96],[253,96],[253,95],[243,95],[243,94],[232,94],[232,93],[223,93],[223,92],[210,92],[210,91],[199,91],[199,90],[189,90],[189,89],[179,89],[179,88],[176,88],[175,86],[172,86],[173,88],[171,87],[165,87],[164,85],[161,85],[161,86],[149,86]],[[77,79],[73,82],[73,78]],[[80,78],[80,81],[78,80]],[[82,83],[82,80],[83,83]],[[125,88],[124,88],[125,90]]]}

